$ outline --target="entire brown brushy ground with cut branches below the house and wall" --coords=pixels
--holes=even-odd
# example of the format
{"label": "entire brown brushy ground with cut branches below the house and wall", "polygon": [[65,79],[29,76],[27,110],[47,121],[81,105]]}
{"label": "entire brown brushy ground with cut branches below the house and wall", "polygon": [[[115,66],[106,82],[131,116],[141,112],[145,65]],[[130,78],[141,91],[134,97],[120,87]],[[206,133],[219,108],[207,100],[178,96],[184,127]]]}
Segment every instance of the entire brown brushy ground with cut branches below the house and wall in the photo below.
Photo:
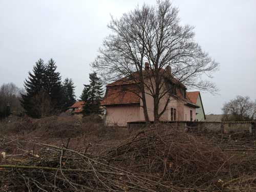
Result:
{"label": "entire brown brushy ground with cut branches below the house and wall", "polygon": [[154,124],[129,132],[85,119],[0,124],[3,191],[254,191],[255,137],[185,133]]}

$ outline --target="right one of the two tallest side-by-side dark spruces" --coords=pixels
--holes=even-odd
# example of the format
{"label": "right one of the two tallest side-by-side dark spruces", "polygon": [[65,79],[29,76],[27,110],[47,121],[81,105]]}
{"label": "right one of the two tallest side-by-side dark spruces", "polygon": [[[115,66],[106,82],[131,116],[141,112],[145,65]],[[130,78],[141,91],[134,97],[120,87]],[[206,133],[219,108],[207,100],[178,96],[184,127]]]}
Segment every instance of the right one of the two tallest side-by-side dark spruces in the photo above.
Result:
{"label": "right one of the two tallest side-by-side dark spruces", "polygon": [[57,66],[55,61],[51,58],[46,65],[45,73],[45,90],[51,98],[54,111],[59,111],[63,108],[63,92],[61,89],[61,77],[59,72],[56,72]]}

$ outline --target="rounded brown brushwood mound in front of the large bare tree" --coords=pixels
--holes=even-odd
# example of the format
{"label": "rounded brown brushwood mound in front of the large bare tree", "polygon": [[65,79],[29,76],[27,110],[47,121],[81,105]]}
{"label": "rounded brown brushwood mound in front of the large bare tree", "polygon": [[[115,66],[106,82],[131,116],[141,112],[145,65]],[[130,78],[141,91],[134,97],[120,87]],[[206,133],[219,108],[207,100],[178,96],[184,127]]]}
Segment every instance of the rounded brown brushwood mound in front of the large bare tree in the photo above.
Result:
{"label": "rounded brown brushwood mound in front of the large bare tree", "polygon": [[177,129],[155,127],[139,132],[112,148],[108,157],[118,167],[158,175],[162,182],[180,186],[208,186],[229,170],[229,157],[203,138]]}

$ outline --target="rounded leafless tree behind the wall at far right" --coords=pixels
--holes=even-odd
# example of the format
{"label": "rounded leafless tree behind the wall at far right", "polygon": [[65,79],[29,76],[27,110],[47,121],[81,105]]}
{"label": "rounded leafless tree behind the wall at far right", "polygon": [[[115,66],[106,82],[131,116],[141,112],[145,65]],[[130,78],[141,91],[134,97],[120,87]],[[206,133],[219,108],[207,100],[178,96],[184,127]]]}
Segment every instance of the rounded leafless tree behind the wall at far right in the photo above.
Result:
{"label": "rounded leafless tree behind the wall at far right", "polygon": [[222,111],[226,121],[246,121],[254,120],[256,114],[256,101],[251,101],[250,97],[238,95],[235,99],[224,103]]}

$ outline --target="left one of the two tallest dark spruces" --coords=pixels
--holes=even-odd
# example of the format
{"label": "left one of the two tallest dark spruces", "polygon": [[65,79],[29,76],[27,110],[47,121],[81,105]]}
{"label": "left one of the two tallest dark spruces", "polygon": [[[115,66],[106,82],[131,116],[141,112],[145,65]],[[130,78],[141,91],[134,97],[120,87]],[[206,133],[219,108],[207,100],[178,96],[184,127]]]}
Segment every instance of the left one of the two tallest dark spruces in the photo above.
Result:
{"label": "left one of the two tallest dark spruces", "polygon": [[32,73],[29,72],[29,77],[24,82],[25,90],[27,93],[22,94],[22,100],[20,100],[20,102],[25,110],[25,113],[31,117],[41,117],[39,112],[35,113],[35,111],[38,109],[35,109],[34,98],[37,94],[44,91],[45,73],[46,67],[44,60],[39,59],[35,63]]}

